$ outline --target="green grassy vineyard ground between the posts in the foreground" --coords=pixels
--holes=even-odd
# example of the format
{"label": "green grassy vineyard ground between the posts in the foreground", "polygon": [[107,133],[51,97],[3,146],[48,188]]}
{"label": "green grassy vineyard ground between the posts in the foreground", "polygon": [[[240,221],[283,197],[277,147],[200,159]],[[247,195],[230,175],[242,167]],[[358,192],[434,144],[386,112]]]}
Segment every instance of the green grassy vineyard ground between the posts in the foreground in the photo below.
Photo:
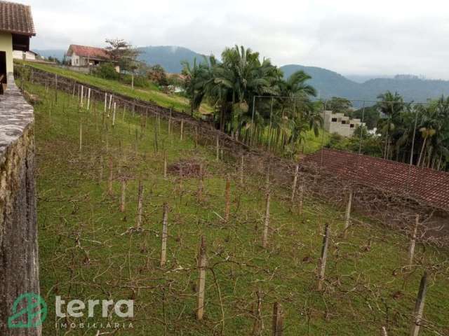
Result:
{"label": "green grassy vineyard ground between the posts in the foreground", "polygon": [[[27,84],[27,90],[43,98],[35,113],[41,294],[49,306],[44,335],[65,335],[67,331],[55,330],[55,295],[69,300],[133,298],[134,328],[115,335],[163,335],[164,321],[167,335],[219,334],[221,297],[225,335],[249,335],[255,290],[263,293],[264,335],[271,335],[268,330],[275,300],[281,301],[286,311],[284,335],[380,335],[382,325],[387,325],[389,335],[408,332],[422,268],[401,271],[407,260],[404,237],[375,225],[356,225],[343,241],[338,236],[341,209],[307,200],[304,215],[299,216],[286,209],[288,191],[275,189],[273,230],[265,251],[260,247],[264,179],[247,174],[244,188],[232,183],[232,220],[222,223],[223,176],[230,172],[234,179],[235,168],[232,162],[215,162],[213,144],[195,148],[190,137],[180,141],[179,133],[168,135],[167,124],[162,122],[156,153],[153,119],[141,133],[137,116],[126,114],[123,120],[119,113],[114,130],[110,118],[105,118],[105,130],[100,114],[78,111],[67,94],[58,94],[55,104],[53,92],[45,94],[43,87]],[[197,179],[187,179],[182,189],[177,176],[163,179],[161,148],[167,151],[169,163],[180,158],[205,163],[205,202],[196,201]],[[114,195],[107,195],[109,155],[114,175],[120,171],[129,178],[125,213],[119,212],[118,181],[114,181]],[[105,167],[101,181],[100,156]],[[138,179],[145,186],[145,230],[130,234],[126,232],[135,225]],[[164,202],[170,207],[168,265],[160,269]],[[316,264],[326,222],[333,225],[328,290],[319,293],[314,290]],[[216,282],[208,269],[206,318],[198,322],[194,318],[195,265],[201,234],[206,236],[208,265]],[[367,250],[364,246],[369,240],[371,248]],[[441,258],[447,255],[417,248],[419,262]],[[431,279],[425,318],[444,334],[449,330],[449,273],[447,269],[441,272]],[[105,323],[105,318],[98,317],[99,311],[95,316],[69,321]],[[121,318],[113,320],[123,322]],[[95,328],[76,329],[69,335],[95,333]],[[434,334],[424,329],[422,335]]]}

